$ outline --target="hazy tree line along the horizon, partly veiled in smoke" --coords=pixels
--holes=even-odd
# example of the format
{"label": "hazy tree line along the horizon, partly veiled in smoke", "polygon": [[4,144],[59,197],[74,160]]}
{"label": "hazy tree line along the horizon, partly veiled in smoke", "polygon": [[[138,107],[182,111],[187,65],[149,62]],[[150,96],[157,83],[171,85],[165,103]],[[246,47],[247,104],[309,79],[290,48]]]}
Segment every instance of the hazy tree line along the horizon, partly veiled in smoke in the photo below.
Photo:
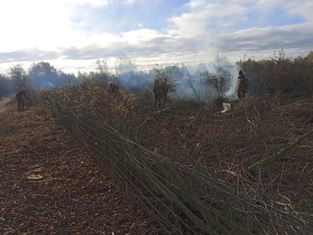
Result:
{"label": "hazy tree line along the horizon, partly veiled in smoke", "polygon": [[[0,74],[0,96],[8,96],[17,89],[58,88],[73,86],[84,80],[95,80],[107,84],[113,80],[130,92],[143,92],[152,87],[155,80],[161,80],[162,97],[170,98],[177,92],[180,97],[192,97],[205,101],[208,97],[225,95],[231,89],[235,93],[236,72],[244,71],[249,79],[250,94],[292,93],[313,94],[313,52],[295,59],[285,52],[274,52],[266,59],[247,57],[231,64],[226,56],[217,55],[216,61],[187,67],[184,64],[159,66],[150,71],[139,71],[135,61],[121,54],[115,61],[115,69],[110,70],[106,61],[98,59],[95,71],[78,74],[56,69],[49,62],[33,63],[25,71],[20,64],[13,65],[8,74]],[[190,94],[192,93],[192,96]]]}

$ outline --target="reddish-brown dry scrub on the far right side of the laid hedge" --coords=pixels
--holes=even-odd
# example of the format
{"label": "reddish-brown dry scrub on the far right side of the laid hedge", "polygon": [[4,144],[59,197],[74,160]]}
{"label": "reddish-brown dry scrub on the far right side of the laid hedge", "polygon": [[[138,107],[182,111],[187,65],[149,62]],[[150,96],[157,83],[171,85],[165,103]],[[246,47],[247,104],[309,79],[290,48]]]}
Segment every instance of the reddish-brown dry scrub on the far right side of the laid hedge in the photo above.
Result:
{"label": "reddish-brown dry scrub on the far right side of the laid hedge", "polygon": [[231,102],[231,110],[226,113],[220,112],[221,102],[212,104],[165,111],[157,119],[155,133],[163,136],[159,146],[184,146],[190,159],[226,180],[233,174],[241,175],[292,205],[306,202],[306,210],[313,212],[313,136],[253,175],[246,172],[250,165],[313,129],[312,99],[250,97]]}

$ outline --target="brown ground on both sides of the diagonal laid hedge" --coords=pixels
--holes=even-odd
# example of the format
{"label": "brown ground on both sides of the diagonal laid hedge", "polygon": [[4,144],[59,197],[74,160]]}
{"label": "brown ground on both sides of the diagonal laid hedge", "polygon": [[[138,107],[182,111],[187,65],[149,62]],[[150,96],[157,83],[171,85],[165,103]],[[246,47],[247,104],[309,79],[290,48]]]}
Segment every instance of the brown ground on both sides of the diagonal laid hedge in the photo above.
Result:
{"label": "brown ground on both sides of the diagonal laid hedge", "polygon": [[[300,211],[312,222],[312,99],[250,97],[230,101],[230,111],[222,113],[225,101],[206,106],[181,102],[159,112],[135,106],[135,121],[141,125],[129,133],[173,162],[189,157],[190,164],[201,165],[220,182],[244,185],[247,194],[281,211]],[[116,128],[123,125],[116,123]],[[0,130],[0,227],[6,234],[164,234],[142,208],[123,197],[121,185],[47,108],[6,108]],[[290,227],[272,229],[300,234]]]}

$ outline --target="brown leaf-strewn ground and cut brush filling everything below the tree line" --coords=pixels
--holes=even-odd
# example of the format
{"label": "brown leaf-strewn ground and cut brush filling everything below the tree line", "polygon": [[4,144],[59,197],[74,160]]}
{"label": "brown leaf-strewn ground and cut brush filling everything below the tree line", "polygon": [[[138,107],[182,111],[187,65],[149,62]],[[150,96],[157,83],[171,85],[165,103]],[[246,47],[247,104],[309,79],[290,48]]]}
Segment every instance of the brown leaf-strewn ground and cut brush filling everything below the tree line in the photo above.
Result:
{"label": "brown leaf-strewn ground and cut brush filling everything below the tree line", "polygon": [[54,118],[42,106],[2,116],[7,234],[311,232],[311,98],[249,97],[226,113],[226,99],[180,100],[155,112],[149,100],[97,99],[106,89],[82,86],[84,96],[79,86],[45,94]]}

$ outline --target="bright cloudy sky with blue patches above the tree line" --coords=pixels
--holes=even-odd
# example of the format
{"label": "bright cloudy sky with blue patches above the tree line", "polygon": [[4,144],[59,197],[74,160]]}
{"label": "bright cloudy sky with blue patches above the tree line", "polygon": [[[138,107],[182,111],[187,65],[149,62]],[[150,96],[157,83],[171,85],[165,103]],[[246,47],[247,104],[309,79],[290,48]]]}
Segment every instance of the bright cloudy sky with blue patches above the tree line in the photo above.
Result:
{"label": "bright cloudy sky with blue patches above the tree line", "polygon": [[66,72],[195,65],[313,50],[312,0],[10,0],[0,2],[0,72],[50,62]]}

